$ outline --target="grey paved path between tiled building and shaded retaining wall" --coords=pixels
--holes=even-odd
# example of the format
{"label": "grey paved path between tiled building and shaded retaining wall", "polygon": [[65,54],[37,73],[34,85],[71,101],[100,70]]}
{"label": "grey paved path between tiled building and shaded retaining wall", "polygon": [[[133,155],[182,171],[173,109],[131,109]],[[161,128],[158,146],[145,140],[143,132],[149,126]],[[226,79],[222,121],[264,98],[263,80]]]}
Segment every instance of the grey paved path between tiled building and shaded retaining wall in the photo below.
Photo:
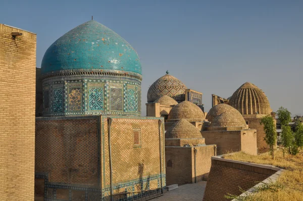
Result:
{"label": "grey paved path between tiled building and shaded retaining wall", "polygon": [[164,195],[152,199],[152,201],[202,200],[205,187],[206,181],[184,184],[175,190],[165,192]]}

